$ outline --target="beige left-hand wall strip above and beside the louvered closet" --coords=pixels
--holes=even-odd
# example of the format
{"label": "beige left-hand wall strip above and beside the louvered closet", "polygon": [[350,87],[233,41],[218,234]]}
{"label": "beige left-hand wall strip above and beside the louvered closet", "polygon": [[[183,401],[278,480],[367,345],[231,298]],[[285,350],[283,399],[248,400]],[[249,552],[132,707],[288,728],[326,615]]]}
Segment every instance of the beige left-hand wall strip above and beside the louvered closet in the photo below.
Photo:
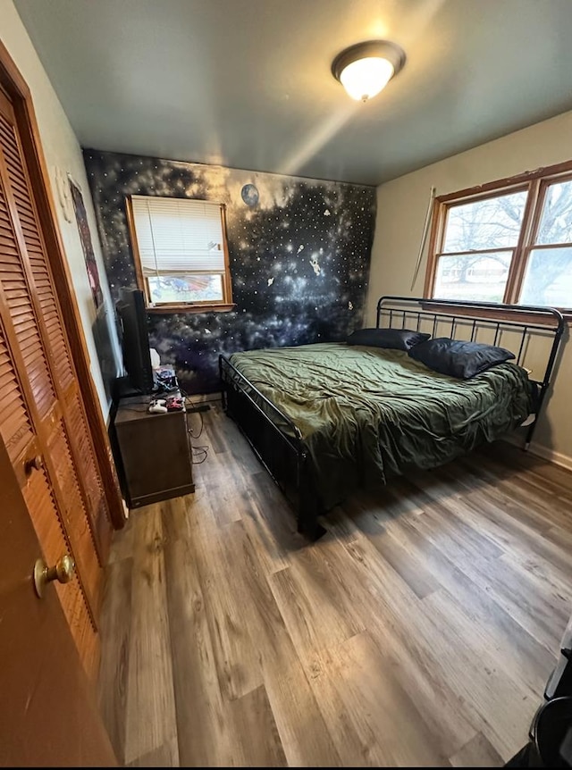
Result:
{"label": "beige left-hand wall strip above and beside the louvered closet", "polygon": [[[50,175],[52,189],[55,192],[55,169],[63,172],[63,175],[70,174],[71,178],[80,186],[81,193],[88,212],[89,229],[93,241],[94,251],[96,252],[97,265],[99,267],[99,276],[103,284],[105,294],[105,304],[111,308],[111,297],[105,279],[105,269],[101,256],[97,236],[97,224],[93,211],[93,204],[88,187],[85,166],[81,155],[80,145],[78,143],[70,122],[68,121],[63,107],[55,95],[54,88],[48,80],[46,71],[38,59],[38,54],[31,44],[26,29],[21,23],[12,0],[0,0],[0,39],[8,49],[16,66],[28,83],[32,94],[36,116],[38,118],[38,128],[46,156],[46,164]],[[57,202],[57,197],[55,196]],[[91,373],[96,383],[97,394],[99,396],[102,410],[107,416],[109,406],[105,396],[104,383],[101,376],[101,370],[97,359],[97,350],[93,333],[92,324],[95,321],[95,306],[91,296],[91,290],[88,283],[88,272],[83,257],[78,226],[75,222],[73,212],[71,212],[71,222],[67,222],[63,209],[56,203],[60,231],[62,233],[63,247],[70,265],[71,279],[80,307],[81,322],[85,331],[88,344],[88,353],[91,362]],[[110,331],[113,335],[114,355],[116,362],[119,360],[116,334],[114,328],[109,323]]]}

